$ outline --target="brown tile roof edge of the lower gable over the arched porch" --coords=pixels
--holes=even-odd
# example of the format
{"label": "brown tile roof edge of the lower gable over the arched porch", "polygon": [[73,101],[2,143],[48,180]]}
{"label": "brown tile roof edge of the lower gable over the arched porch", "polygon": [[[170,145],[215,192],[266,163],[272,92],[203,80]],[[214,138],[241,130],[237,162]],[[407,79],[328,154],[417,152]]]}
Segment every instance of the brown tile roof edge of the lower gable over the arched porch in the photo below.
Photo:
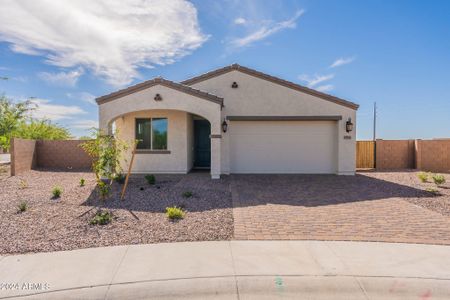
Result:
{"label": "brown tile roof edge of the lower gable over the arched porch", "polygon": [[189,94],[189,95],[192,95],[192,96],[196,96],[196,97],[199,97],[199,98],[203,98],[205,100],[209,100],[209,101],[215,102],[215,103],[220,104],[221,106],[223,106],[223,98],[221,98],[221,97],[218,97],[216,95],[213,95],[213,94],[210,94],[210,93],[207,93],[207,92],[195,89],[193,87],[190,87],[190,86],[187,86],[187,85],[184,85],[184,84],[181,84],[181,83],[173,82],[173,81],[161,78],[161,77],[150,79],[150,80],[138,83],[136,85],[132,85],[130,87],[127,87],[125,89],[119,90],[117,92],[113,92],[111,94],[98,97],[98,98],[95,99],[95,101],[97,101],[97,104],[100,105],[100,104],[103,104],[103,103],[106,103],[106,102],[109,102],[109,101],[121,98],[123,96],[130,95],[130,94],[133,94],[133,93],[145,90],[145,89],[147,89],[149,87],[152,87],[152,86],[158,85],[158,84],[162,85],[162,86],[165,86],[165,87],[168,87],[168,88],[172,88],[174,90],[177,90],[177,91],[180,91],[180,92],[183,92],[183,93],[186,93],[186,94]]}

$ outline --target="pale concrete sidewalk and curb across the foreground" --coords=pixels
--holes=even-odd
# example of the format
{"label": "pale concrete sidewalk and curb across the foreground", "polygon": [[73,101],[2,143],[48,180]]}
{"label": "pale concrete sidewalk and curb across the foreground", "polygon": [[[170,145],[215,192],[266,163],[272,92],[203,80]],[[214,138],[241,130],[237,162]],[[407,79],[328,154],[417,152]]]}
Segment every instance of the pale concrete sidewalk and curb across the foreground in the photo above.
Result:
{"label": "pale concrete sidewalk and curb across the foreground", "polygon": [[450,247],[223,241],[92,248],[0,257],[0,284],[0,298],[26,299],[449,299]]}

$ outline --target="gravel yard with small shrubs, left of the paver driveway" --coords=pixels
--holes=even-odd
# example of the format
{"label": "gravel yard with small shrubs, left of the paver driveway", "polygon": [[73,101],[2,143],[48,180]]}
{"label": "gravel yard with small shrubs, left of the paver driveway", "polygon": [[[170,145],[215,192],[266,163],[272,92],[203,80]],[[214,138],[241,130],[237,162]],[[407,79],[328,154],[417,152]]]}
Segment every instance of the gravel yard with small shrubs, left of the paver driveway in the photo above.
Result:
{"label": "gravel yard with small shrubs, left of the paver driveway", "polygon": [[[80,178],[86,180],[83,187]],[[63,189],[60,198],[52,198],[56,185]],[[212,181],[207,173],[157,175],[156,184],[149,185],[144,175],[134,176],[124,201],[119,200],[121,188],[114,183],[112,196],[102,201],[89,172],[41,170],[0,177],[0,254],[232,238],[227,177]],[[186,191],[192,197],[183,197]],[[23,201],[28,209],[19,213]],[[174,205],[184,208],[184,219],[166,217],[165,208]],[[112,212],[111,223],[89,224],[98,208]]]}

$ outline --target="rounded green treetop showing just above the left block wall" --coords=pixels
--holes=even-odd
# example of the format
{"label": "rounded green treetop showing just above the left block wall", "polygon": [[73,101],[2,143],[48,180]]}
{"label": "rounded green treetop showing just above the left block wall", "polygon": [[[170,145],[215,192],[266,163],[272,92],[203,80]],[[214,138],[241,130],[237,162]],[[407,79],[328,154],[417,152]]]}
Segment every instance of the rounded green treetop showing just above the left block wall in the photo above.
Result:
{"label": "rounded green treetop showing just above the left block wall", "polygon": [[14,137],[32,140],[66,140],[71,137],[69,130],[49,120],[31,119],[21,122],[13,133]]}

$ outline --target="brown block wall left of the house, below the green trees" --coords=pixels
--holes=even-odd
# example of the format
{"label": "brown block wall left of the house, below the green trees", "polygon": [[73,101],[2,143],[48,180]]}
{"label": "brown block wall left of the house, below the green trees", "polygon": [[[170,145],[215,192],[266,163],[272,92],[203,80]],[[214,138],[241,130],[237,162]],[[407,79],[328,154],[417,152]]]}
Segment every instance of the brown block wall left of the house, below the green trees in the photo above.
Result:
{"label": "brown block wall left of the house, below the green trees", "polygon": [[11,176],[35,168],[88,170],[92,159],[80,147],[83,140],[11,140]]}

